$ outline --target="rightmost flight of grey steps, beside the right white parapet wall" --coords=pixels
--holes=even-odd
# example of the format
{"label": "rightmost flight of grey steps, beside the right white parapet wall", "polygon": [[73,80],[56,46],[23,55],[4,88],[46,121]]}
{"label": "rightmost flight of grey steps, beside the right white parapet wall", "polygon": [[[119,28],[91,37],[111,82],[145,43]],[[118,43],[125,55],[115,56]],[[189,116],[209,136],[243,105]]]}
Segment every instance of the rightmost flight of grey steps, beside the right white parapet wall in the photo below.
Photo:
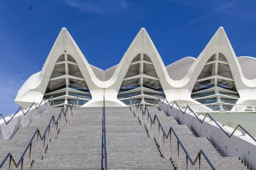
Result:
{"label": "rightmost flight of grey steps, beside the right white parapet wall", "polygon": [[[218,148],[210,142],[206,137],[197,137],[196,134],[193,132],[191,128],[187,125],[179,125],[174,117],[166,116],[164,111],[158,111],[156,106],[147,107],[148,111],[153,119],[154,114],[157,115],[158,119],[160,120],[161,125],[166,133],[168,133],[169,128],[172,126],[177,134],[178,138],[182,142],[183,146],[185,147],[187,153],[194,161],[199,150],[203,150],[204,153],[207,155],[208,159],[211,161],[212,165],[216,168],[216,170],[246,170],[247,166],[244,166],[239,160],[238,157],[224,157],[224,155],[218,150]],[[147,128],[148,129],[148,128]],[[149,129],[149,134],[151,134],[151,129]],[[163,133],[160,130],[161,135],[161,146],[159,147],[160,153],[164,155],[163,150]],[[154,138],[154,130],[153,136]],[[157,137],[154,141],[159,144],[159,135],[158,135],[158,123],[157,123]],[[178,154],[177,154],[177,139],[172,134],[172,147],[173,147],[173,159],[172,162],[174,166],[178,169]],[[180,169],[186,169],[186,154],[184,153],[183,149],[180,147]],[[171,152],[170,152],[170,139],[166,142],[166,157],[170,159]],[[209,164],[205,161],[204,157],[202,157],[202,165],[204,170],[211,170]],[[190,170],[199,170],[199,163],[195,164],[194,166],[191,165],[189,162],[189,169]]]}

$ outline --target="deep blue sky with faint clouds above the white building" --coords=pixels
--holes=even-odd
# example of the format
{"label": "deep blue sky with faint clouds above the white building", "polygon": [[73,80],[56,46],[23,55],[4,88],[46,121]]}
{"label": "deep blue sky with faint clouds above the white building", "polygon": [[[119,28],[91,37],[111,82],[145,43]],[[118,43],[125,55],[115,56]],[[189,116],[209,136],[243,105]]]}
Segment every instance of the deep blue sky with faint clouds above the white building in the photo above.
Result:
{"label": "deep blue sky with faint clouds above the white building", "polygon": [[41,71],[62,27],[102,69],[119,63],[142,27],[165,65],[198,57],[220,26],[237,56],[256,57],[255,8],[255,0],[0,0],[1,113],[17,110],[18,89]]}

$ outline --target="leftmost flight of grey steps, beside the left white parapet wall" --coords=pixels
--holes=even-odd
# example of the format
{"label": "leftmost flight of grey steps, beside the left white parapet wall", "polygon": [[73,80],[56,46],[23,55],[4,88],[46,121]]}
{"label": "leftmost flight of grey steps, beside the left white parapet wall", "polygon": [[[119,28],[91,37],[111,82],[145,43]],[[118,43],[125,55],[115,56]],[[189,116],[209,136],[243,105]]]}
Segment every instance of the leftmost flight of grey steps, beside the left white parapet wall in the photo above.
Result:
{"label": "leftmost flight of grey steps, beside the left white parapet wall", "polygon": [[[6,155],[10,152],[12,153],[16,163],[19,161],[22,156],[24,150],[26,149],[29,141],[31,140],[35,130],[38,128],[40,130],[41,135],[44,134],[52,115],[57,119],[61,108],[51,108],[49,112],[43,113],[42,116],[38,119],[33,119],[28,127],[20,127],[12,139],[8,140],[0,140],[0,161],[6,157]],[[47,132],[48,134],[48,132]],[[46,144],[48,142],[48,135],[46,137]],[[35,136],[32,142],[32,159],[36,159],[37,157],[37,135]],[[39,159],[43,157],[43,141],[39,141]],[[47,148],[47,147],[46,147]],[[24,156],[24,168],[28,169],[29,162],[29,150],[26,152]],[[12,168],[15,169],[15,166],[12,165]],[[6,161],[4,166],[1,169],[9,169],[9,159]],[[20,169],[20,168],[18,168]]]}

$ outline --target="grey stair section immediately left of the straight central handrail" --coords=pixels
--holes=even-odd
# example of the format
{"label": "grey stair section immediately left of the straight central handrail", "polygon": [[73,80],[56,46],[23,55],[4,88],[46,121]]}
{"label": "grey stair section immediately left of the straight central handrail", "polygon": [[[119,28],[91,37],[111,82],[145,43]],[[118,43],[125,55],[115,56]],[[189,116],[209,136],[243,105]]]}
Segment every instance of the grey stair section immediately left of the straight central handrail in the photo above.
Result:
{"label": "grey stair section immediately left of the straight central handrail", "polygon": [[102,107],[78,108],[32,169],[102,169]]}

